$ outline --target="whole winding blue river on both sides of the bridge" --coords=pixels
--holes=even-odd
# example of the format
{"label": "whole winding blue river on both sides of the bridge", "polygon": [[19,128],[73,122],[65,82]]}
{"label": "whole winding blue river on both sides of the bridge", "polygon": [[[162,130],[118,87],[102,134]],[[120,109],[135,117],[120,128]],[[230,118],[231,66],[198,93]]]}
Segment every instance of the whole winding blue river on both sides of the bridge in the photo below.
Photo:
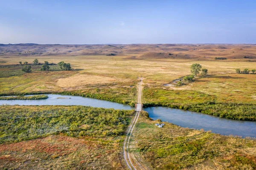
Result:
{"label": "whole winding blue river on both sides of the bridge", "polygon": [[[0,100],[0,105],[82,105],[113,109],[134,109],[134,107],[126,104],[119,104],[93,98],[84,98],[72,95],[46,95],[48,95],[49,98],[42,100]],[[256,138],[256,122],[254,121],[236,121],[204,113],[172,109],[169,107],[148,107],[144,110],[147,111],[149,113],[149,117],[154,120],[161,119],[162,121],[168,121],[181,127],[198,130],[204,129],[206,131],[211,130],[212,133],[219,133],[221,135],[239,135],[243,138],[247,136]]]}

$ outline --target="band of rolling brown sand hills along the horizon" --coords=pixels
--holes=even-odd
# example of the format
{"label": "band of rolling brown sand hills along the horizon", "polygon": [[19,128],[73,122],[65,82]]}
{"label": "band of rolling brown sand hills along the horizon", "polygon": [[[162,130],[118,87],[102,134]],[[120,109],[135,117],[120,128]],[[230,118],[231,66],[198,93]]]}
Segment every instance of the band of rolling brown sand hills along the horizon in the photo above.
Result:
{"label": "band of rolling brown sand hills along the horizon", "polygon": [[[256,60],[256,44],[0,44],[0,56],[127,55],[133,59]],[[171,55],[169,55],[169,53]]]}

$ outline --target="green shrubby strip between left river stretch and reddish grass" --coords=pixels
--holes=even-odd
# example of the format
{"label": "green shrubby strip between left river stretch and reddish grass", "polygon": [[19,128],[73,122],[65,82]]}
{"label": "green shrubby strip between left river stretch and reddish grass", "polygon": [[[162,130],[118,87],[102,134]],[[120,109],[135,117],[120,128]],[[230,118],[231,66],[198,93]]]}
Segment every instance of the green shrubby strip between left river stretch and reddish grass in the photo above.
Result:
{"label": "green shrubby strip between left river stretch and reddish grass", "polygon": [[64,133],[116,136],[124,133],[132,110],[84,106],[0,106],[0,143]]}

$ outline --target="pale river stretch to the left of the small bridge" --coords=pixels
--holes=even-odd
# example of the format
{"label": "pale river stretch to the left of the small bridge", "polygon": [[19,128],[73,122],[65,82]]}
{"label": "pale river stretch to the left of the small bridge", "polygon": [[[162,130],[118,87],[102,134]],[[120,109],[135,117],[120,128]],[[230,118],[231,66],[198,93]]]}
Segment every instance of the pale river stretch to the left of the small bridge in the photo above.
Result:
{"label": "pale river stretch to the left of the small bridge", "polygon": [[[103,107],[103,108],[113,108],[113,109],[125,109],[131,110],[131,107],[127,104],[119,104],[111,101],[104,101],[94,98],[84,98],[81,96],[73,95],[52,95],[45,94],[49,98],[42,100],[0,100],[0,105],[10,104],[10,105],[82,105],[91,107]],[[26,95],[31,96],[31,95]]]}

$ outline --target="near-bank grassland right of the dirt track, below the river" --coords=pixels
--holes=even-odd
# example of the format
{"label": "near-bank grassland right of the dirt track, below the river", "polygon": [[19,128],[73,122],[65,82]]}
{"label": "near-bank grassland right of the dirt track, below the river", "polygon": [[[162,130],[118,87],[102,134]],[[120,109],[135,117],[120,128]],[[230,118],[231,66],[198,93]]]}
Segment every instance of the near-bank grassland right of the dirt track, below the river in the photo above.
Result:
{"label": "near-bank grassland right of the dirt track, below the river", "polygon": [[256,140],[218,135],[166,123],[163,128],[140,117],[130,152],[154,170],[253,170]]}

